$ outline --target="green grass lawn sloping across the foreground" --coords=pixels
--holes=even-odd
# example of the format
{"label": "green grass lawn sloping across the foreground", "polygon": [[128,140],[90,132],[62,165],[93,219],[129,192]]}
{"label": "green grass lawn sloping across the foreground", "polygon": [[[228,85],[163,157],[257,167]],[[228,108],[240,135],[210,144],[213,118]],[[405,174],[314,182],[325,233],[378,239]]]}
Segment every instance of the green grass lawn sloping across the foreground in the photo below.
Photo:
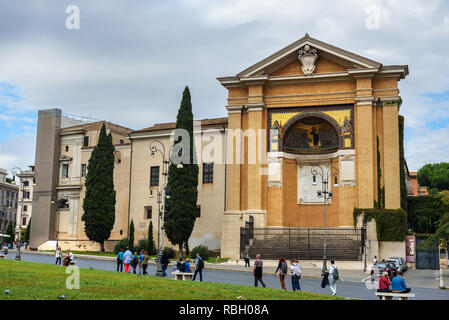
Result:
{"label": "green grass lawn sloping across the foreground", "polygon": [[[154,276],[79,269],[80,289],[65,287],[66,268],[43,263],[0,260],[0,300],[337,300],[308,292],[281,291],[212,282],[174,281]],[[3,292],[8,288],[9,295]]]}

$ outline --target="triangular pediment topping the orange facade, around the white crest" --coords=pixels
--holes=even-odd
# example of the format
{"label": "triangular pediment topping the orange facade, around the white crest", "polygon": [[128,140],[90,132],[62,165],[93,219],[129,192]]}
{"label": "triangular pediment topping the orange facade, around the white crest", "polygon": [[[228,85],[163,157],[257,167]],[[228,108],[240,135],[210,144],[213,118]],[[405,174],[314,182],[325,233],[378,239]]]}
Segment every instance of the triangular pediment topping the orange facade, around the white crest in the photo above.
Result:
{"label": "triangular pediment topping the orange facade, around the white crest", "polygon": [[298,53],[306,45],[316,49],[317,60],[314,73],[338,72],[348,69],[379,69],[382,64],[325,42],[311,38],[307,34],[271,56],[257,62],[237,74],[239,78],[261,75],[289,75],[295,70],[301,74]]}

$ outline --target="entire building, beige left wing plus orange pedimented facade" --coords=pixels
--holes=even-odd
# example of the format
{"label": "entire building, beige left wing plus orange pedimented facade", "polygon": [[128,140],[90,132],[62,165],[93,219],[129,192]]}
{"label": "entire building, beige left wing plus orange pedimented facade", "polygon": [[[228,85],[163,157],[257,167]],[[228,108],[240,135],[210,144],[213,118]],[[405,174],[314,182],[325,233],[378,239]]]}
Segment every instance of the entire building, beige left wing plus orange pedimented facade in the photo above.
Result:
{"label": "entire building, beige left wing plus orange pedimented facade", "polygon": [[[250,217],[259,228],[322,228],[322,177],[315,165],[333,193],[328,227],[352,227],[353,209],[373,208],[379,185],[385,208],[400,208],[398,82],[407,75],[407,66],[384,66],[306,35],[235,76],[218,78],[228,92],[228,114],[195,122],[198,219],[189,246],[238,258],[240,231]],[[58,109],[39,113],[33,197],[39,222],[33,220],[31,246],[58,238],[87,250],[95,244],[80,220],[84,175],[102,122],[61,123]],[[107,128],[116,146],[111,245],[128,236],[131,220],[136,240],[147,236],[150,221],[156,238],[165,176],[163,157],[150,147],[168,154],[175,123]]]}

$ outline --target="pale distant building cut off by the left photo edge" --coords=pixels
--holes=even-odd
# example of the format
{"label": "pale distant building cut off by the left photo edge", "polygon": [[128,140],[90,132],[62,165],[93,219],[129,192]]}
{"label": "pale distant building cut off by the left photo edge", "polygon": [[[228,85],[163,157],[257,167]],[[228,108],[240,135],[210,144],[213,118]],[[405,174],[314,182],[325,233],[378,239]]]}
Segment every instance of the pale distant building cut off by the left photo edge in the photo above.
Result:
{"label": "pale distant building cut off by the left photo edge", "polygon": [[0,233],[5,234],[9,223],[16,225],[19,186],[7,181],[8,172],[0,169]]}

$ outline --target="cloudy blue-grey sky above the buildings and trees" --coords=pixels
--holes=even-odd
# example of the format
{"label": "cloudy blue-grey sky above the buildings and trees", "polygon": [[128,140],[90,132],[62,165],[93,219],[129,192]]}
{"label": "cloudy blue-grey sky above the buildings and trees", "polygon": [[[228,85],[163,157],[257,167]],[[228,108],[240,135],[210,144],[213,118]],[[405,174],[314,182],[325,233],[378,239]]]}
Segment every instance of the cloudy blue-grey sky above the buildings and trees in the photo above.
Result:
{"label": "cloudy blue-grey sky above the buildings and trees", "polygon": [[[69,5],[79,29],[66,28]],[[0,167],[34,162],[39,109],[140,129],[174,121],[188,85],[196,119],[226,116],[216,77],[306,32],[408,64],[399,85],[409,168],[448,161],[448,1],[0,0]]]}

